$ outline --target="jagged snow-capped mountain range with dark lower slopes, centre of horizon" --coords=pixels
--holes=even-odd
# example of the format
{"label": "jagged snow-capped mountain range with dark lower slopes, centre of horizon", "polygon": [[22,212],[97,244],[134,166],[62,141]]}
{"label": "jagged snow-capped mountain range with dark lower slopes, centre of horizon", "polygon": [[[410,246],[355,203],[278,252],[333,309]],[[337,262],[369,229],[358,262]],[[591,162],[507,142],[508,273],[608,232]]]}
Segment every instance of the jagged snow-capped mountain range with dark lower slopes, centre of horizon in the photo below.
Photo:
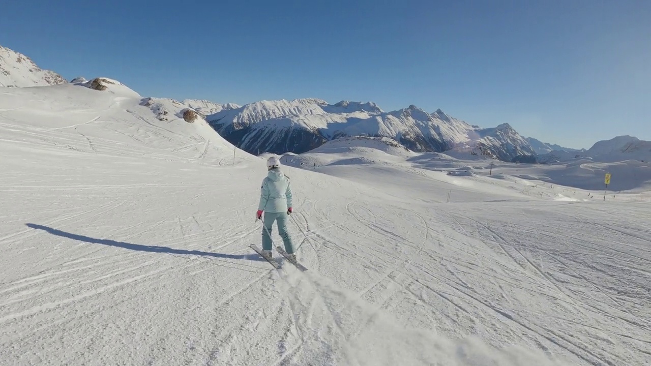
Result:
{"label": "jagged snow-capped mountain range with dark lower slopes, centre of horizon", "polygon": [[221,111],[206,119],[227,140],[256,154],[299,154],[341,136],[389,137],[410,150],[450,149],[486,154],[501,160],[533,155],[529,143],[508,124],[479,128],[416,106],[384,112],[374,103],[328,104],[310,98],[262,101]]}

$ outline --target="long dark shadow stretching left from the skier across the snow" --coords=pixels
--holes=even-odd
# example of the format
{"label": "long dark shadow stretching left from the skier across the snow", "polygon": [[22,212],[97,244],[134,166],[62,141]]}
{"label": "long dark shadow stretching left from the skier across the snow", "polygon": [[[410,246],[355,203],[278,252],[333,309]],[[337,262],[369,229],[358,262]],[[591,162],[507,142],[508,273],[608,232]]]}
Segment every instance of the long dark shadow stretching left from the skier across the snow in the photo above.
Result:
{"label": "long dark shadow stretching left from the skier across the snow", "polygon": [[143,246],[140,244],[116,242],[115,240],[97,239],[97,238],[90,238],[89,236],[71,234],[70,232],[52,229],[51,227],[36,225],[34,223],[26,223],[25,225],[27,225],[27,227],[31,227],[32,229],[47,231],[50,234],[62,236],[64,238],[70,238],[73,240],[79,240],[80,242],[102,244],[103,246],[121,247],[124,249],[131,249],[137,251],[150,251],[154,253],[170,253],[170,254],[183,254],[183,255],[204,255],[206,257],[216,257],[216,258],[226,258],[226,259],[248,259],[248,260],[260,260],[260,261],[264,260],[260,258],[259,255],[255,255],[255,254],[232,255],[232,254],[222,254],[222,253],[210,253],[207,251],[198,251],[198,250],[173,249],[171,247]]}

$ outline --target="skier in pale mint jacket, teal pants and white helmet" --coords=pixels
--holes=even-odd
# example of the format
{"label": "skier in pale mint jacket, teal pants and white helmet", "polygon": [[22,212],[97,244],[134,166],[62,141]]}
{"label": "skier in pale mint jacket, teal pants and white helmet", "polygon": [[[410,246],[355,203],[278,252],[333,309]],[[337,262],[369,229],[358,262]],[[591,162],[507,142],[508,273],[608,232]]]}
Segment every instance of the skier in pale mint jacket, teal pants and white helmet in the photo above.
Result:
{"label": "skier in pale mint jacket, teal pants and white helmet", "polygon": [[275,156],[267,160],[267,176],[260,187],[260,203],[256,218],[262,219],[262,252],[271,257],[271,227],[277,221],[278,233],[283,238],[285,251],[296,259],[292,238],[287,231],[287,219],[292,213],[292,184],[280,170],[281,162]]}

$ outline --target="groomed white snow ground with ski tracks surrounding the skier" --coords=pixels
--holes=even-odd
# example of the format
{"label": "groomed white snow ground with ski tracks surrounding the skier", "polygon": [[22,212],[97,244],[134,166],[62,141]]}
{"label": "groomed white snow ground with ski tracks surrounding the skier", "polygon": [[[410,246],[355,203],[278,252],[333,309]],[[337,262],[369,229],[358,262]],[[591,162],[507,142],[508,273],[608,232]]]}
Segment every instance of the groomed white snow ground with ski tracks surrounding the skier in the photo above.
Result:
{"label": "groomed white snow ground with ski tracks surrounding the skier", "polygon": [[0,88],[1,365],[649,365],[644,191],[340,141],[277,271],[264,160],[118,86]]}

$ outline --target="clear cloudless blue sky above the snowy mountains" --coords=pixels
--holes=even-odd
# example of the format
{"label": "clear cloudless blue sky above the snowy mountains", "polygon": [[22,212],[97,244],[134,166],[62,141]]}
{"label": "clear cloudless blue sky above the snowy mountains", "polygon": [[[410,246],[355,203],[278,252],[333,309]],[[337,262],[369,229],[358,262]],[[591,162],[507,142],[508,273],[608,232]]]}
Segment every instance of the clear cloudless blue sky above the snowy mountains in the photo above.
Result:
{"label": "clear cloudless blue sky above the snowy mountains", "polygon": [[25,0],[0,45],[143,96],[415,104],[588,148],[651,140],[650,19],[643,0]]}

